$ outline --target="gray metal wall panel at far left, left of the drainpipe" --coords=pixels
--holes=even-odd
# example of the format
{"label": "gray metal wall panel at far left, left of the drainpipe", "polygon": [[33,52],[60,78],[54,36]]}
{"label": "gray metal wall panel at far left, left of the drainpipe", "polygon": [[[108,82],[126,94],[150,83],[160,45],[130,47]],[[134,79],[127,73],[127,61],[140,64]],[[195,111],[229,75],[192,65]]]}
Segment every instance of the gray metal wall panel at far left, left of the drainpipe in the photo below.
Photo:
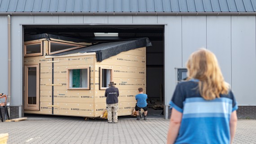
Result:
{"label": "gray metal wall panel at far left, left of the drainpipe", "polygon": [[8,31],[7,31],[7,16],[0,16],[0,93],[8,93]]}

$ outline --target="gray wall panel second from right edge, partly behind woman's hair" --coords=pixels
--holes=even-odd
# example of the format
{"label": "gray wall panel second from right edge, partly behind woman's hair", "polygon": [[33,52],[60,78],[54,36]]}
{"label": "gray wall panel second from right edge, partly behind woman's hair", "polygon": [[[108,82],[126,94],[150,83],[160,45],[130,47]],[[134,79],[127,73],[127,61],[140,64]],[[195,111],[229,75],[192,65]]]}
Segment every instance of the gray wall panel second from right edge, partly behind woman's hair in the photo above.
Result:
{"label": "gray wall panel second from right edge, partly behind woman's hair", "polygon": [[231,16],[207,16],[207,49],[216,55],[225,81],[231,85],[230,28]]}

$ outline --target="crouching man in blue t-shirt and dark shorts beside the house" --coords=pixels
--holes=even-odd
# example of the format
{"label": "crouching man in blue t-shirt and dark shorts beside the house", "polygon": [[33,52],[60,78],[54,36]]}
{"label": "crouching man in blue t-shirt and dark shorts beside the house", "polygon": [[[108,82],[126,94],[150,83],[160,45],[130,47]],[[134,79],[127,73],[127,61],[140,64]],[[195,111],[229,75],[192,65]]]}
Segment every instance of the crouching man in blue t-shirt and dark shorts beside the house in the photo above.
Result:
{"label": "crouching man in blue t-shirt and dark shorts beside the house", "polygon": [[137,101],[137,104],[135,106],[137,120],[140,120],[140,116],[139,116],[140,109],[144,110],[144,120],[147,120],[148,105],[147,105],[146,99],[148,98],[148,96],[143,93],[143,88],[139,88],[138,90],[139,90],[139,94],[135,96],[135,99]]}

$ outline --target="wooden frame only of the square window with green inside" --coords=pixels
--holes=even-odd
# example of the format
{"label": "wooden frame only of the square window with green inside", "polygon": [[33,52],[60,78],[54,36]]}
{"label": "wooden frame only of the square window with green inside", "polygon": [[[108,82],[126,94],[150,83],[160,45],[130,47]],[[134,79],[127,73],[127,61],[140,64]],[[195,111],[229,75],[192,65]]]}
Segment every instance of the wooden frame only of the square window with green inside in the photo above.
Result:
{"label": "wooden frame only of the square window with green inside", "polygon": [[[70,86],[69,86],[70,76],[69,75],[70,75],[70,70],[73,70],[73,69],[87,69],[87,71],[88,71],[88,75],[87,75],[87,79],[88,79],[87,85],[88,85],[88,87],[87,88],[70,88]],[[90,67],[67,68],[66,71],[67,71],[67,73],[66,73],[66,77],[67,77],[67,79],[66,79],[66,89],[69,89],[69,90],[71,90],[71,89],[90,90],[91,89],[91,87],[90,87],[90,75],[91,75]]]}

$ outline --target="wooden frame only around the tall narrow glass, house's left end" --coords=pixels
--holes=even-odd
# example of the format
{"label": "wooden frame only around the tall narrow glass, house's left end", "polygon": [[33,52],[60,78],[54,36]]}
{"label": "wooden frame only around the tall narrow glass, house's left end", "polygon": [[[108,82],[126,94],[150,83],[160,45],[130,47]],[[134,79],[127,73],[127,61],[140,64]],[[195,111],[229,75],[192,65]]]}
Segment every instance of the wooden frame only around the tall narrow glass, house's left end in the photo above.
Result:
{"label": "wooden frame only around the tall narrow glass, house's left end", "polygon": [[[36,104],[28,104],[28,68],[36,67]],[[40,82],[40,77],[39,77],[39,64],[33,64],[33,65],[24,65],[24,88],[25,88],[25,102],[24,102],[24,110],[40,110],[40,94],[39,94],[39,82]]]}

